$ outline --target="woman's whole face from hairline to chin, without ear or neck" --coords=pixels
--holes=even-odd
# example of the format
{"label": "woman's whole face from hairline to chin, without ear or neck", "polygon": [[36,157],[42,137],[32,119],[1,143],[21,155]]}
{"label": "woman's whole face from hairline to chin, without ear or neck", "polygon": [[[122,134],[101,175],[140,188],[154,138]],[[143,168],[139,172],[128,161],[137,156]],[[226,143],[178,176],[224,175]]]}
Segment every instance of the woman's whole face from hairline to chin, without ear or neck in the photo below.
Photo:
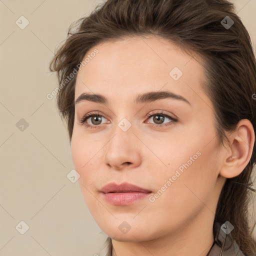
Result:
{"label": "woman's whole face from hairline to chin, without ear or neck", "polygon": [[[71,151],[99,227],[119,241],[156,239],[198,223],[212,228],[222,147],[212,102],[201,88],[201,64],[154,37],[108,41],[85,57],[75,100],[87,93],[105,102],[79,97]],[[111,186],[102,192],[112,182],[146,190]]]}

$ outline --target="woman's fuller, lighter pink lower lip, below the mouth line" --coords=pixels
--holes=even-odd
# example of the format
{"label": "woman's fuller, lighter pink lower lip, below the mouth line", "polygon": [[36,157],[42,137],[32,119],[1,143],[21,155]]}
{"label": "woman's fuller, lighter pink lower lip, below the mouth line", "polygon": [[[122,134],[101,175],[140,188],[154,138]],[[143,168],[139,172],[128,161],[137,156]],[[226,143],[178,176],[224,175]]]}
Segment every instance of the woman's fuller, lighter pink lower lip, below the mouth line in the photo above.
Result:
{"label": "woman's fuller, lighter pink lower lip, below the mouth line", "polygon": [[102,193],[104,199],[113,205],[129,205],[134,201],[147,197],[150,192]]}

